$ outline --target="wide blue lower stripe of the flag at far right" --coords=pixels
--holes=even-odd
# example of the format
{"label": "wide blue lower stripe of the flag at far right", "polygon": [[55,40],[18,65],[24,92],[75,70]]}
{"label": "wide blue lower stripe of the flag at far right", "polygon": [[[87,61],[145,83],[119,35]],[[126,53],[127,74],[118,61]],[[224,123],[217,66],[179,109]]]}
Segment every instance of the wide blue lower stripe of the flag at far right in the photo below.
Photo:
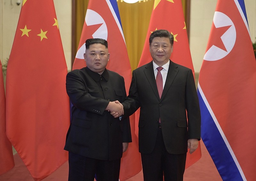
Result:
{"label": "wide blue lower stripe of the flag at far right", "polygon": [[201,110],[201,137],[223,180],[243,180],[204,100],[197,90]]}

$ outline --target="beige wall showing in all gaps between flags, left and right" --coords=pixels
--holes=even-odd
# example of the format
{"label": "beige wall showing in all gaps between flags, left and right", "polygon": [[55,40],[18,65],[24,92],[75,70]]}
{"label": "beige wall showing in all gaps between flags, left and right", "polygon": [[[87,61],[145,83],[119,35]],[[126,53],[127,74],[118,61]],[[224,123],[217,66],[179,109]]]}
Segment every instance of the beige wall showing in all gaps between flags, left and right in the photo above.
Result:
{"label": "beige wall showing in all gaps between flags, left and right", "polygon": [[[17,0],[0,0],[0,59],[9,57],[20,6]],[[244,0],[252,41],[256,37],[256,1]],[[199,72],[212,26],[217,0],[191,0],[190,49],[195,72]],[[71,0],[54,0],[68,70],[71,70]]]}

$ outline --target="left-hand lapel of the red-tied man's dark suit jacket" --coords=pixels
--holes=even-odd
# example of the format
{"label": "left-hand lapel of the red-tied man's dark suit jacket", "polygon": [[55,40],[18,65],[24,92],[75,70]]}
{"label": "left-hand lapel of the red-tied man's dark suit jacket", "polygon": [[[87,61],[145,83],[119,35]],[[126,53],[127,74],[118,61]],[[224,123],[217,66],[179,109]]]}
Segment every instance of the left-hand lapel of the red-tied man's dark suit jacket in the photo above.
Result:
{"label": "left-hand lapel of the red-tied man's dark suit jacket", "polygon": [[155,74],[154,74],[154,70],[153,70],[153,61],[149,62],[144,69],[144,73],[145,76],[148,79],[148,82],[150,84],[150,86],[152,87],[156,97],[158,98],[158,100],[160,100],[159,94],[158,94],[158,90],[157,90],[157,86],[156,86],[156,78],[155,78]]}

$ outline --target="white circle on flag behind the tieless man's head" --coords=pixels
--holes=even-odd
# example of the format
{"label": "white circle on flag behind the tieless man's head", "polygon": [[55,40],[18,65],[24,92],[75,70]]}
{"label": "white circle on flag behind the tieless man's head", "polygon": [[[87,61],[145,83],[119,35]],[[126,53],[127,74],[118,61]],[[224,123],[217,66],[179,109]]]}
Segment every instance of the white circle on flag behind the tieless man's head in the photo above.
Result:
{"label": "white circle on flag behind the tieless man's head", "polygon": [[[104,19],[96,11],[87,9],[85,15],[85,23],[87,26],[102,24],[94,33],[92,38],[108,39],[108,28]],[[84,40],[85,41],[85,40]],[[77,50],[76,58],[84,59],[85,43]]]}

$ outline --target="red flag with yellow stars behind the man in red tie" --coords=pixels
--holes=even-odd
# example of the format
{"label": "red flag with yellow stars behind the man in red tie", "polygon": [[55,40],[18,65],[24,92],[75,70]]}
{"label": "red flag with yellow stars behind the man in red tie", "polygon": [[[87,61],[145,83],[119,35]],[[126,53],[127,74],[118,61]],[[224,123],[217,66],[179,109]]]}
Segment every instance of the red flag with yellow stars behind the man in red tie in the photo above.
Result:
{"label": "red flag with yellow stars behind the man in red tie", "polygon": [[[147,37],[138,67],[152,60],[149,52],[148,39],[153,31],[160,29],[168,30],[174,36],[171,60],[175,63],[188,67],[189,69],[192,69],[194,74],[194,67],[189,50],[188,35],[181,0],[155,0],[148,27]],[[139,111],[140,110],[137,110],[135,113],[136,122],[139,121]],[[187,154],[186,168],[194,164],[200,158],[201,147],[199,144],[198,148],[192,155]]]}

